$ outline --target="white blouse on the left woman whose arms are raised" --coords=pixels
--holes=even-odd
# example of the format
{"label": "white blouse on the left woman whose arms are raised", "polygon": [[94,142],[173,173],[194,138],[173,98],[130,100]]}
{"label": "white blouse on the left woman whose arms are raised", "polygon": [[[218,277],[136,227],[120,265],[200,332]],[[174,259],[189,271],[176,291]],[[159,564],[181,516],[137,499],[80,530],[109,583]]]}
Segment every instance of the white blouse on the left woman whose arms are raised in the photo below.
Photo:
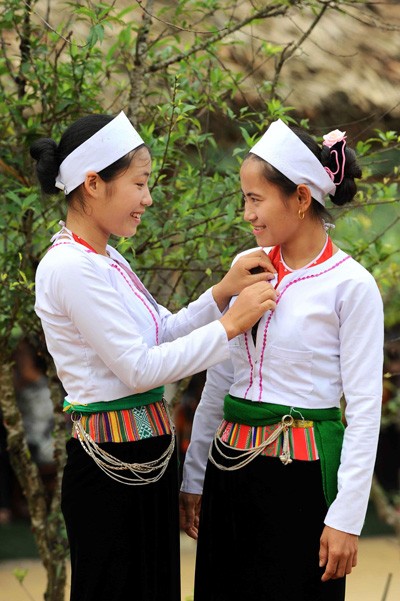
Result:
{"label": "white blouse on the left woman whose arms are raised", "polygon": [[211,289],[174,315],[160,305],[158,313],[115,268],[128,263],[107,250],[110,258],[59,238],[37,269],[35,310],[69,403],[144,392],[229,356]]}

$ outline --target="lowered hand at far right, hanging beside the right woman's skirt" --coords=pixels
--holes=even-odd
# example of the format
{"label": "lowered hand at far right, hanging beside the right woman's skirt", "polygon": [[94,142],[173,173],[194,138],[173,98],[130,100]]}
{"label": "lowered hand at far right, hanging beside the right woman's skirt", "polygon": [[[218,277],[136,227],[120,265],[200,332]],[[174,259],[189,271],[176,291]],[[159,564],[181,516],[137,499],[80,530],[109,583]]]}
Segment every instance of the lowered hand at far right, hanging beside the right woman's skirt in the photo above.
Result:
{"label": "lowered hand at far right, hanging beside the right woman's skirt", "polygon": [[325,526],[320,539],[319,566],[322,582],[343,578],[357,565],[358,536]]}

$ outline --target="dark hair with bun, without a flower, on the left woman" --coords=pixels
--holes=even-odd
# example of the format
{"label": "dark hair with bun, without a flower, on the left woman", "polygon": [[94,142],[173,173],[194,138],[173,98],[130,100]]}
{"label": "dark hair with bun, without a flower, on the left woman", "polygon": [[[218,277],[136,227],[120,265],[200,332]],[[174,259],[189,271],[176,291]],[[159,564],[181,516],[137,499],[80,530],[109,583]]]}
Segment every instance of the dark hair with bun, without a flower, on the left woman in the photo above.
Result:
{"label": "dark hair with bun, without a flower, on the left woman", "polygon": [[[40,138],[33,142],[30,147],[30,153],[31,157],[37,161],[36,174],[43,192],[46,194],[57,194],[60,192],[55,186],[55,181],[61,163],[73,150],[78,148],[83,142],[86,142],[86,140],[91,138],[113,119],[114,117],[111,115],[87,115],[86,117],[81,117],[66,129],[58,146],[51,138]],[[129,152],[112,165],[99,171],[101,179],[108,182],[115,178],[121,171],[127,169],[135,152],[143,146],[145,145],[138,146],[134,151]],[[76,192],[76,190],[77,188],[66,196],[67,200],[70,200],[71,194]]]}

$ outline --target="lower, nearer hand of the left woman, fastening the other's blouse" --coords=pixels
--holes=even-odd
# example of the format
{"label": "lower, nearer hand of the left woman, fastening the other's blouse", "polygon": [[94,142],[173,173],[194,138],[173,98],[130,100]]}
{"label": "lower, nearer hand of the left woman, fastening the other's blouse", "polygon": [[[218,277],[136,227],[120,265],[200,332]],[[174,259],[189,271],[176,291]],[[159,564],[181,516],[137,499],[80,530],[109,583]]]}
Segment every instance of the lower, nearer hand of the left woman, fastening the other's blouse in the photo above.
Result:
{"label": "lower, nearer hand of the left woman, fastening the other's blouse", "polygon": [[249,330],[266,311],[276,309],[276,291],[267,282],[247,286],[221,317],[228,340]]}

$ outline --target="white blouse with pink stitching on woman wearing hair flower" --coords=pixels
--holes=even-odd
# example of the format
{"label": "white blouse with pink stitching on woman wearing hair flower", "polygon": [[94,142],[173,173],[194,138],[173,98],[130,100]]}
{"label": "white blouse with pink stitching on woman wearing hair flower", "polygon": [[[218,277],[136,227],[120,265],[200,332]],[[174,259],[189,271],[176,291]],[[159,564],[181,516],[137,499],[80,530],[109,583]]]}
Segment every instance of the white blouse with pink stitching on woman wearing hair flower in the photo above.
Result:
{"label": "white blouse with pink stitching on woman wearing hair flower", "polygon": [[312,409],[339,407],[343,392],[347,428],[339,492],[325,523],[344,532],[360,533],[382,404],[381,296],[372,276],[351,258],[285,290],[299,277],[316,276],[346,257],[339,251],[321,265],[285,276],[277,288],[281,299],[271,318],[265,346],[269,313],[258,326],[256,346],[250,332],[248,351],[244,336],[237,337],[230,342],[231,360],[208,370],[186,454],[182,490],[196,494],[202,491],[208,448],[222,420],[223,399],[228,392],[243,398],[248,390],[247,399],[251,401]]}

